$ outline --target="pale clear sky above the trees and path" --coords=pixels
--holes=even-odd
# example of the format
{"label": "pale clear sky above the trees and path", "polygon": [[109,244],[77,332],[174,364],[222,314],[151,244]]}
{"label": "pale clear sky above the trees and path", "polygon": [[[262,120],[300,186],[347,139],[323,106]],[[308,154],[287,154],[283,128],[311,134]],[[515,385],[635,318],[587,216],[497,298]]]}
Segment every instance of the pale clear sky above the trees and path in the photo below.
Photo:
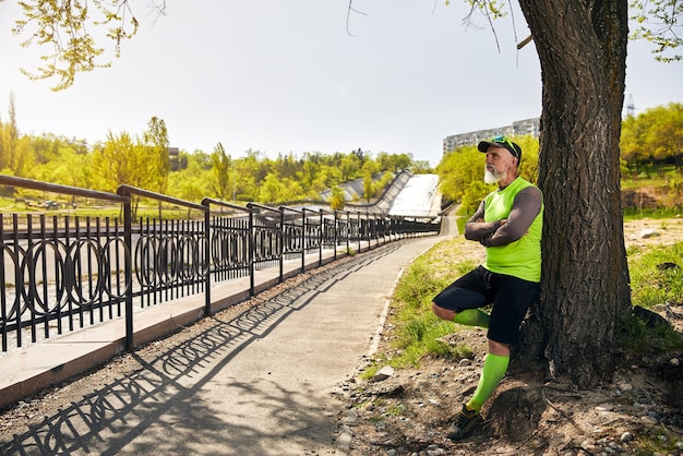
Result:
{"label": "pale clear sky above the trees and path", "polygon": [[[168,1],[153,22],[132,0],[139,35],[109,69],[73,87],[32,82],[39,49],[10,32],[19,7],[0,2],[0,116],[14,93],[22,133],[105,141],[109,131],[142,135],[157,116],[172,146],[233,157],[304,152],[410,153],[439,163],[445,136],[538,117],[541,76],[524,16],[466,27],[464,1],[348,0]],[[514,20],[514,21],[513,21]],[[516,28],[513,29],[513,22]],[[683,103],[683,62],[654,60],[630,44],[626,100],[636,113]]]}

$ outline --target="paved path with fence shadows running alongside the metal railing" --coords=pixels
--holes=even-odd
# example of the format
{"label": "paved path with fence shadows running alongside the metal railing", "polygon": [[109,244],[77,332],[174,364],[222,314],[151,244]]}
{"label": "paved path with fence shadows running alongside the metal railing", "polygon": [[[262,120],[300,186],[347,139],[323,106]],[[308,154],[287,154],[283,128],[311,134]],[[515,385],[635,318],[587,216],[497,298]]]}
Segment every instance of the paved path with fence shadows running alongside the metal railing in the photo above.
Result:
{"label": "paved path with fence shadows running alongside the metal railing", "polygon": [[218,314],[199,337],[0,443],[0,454],[337,454],[333,393],[369,352],[402,269],[441,239],[383,245]]}

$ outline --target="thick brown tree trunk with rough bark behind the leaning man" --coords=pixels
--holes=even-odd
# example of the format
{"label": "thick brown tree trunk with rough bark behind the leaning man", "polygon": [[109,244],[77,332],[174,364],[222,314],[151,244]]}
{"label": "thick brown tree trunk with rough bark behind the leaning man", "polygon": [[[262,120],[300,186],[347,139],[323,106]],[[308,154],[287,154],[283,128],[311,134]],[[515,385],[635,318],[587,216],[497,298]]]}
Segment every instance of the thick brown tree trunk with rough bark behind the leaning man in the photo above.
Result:
{"label": "thick brown tree trunk with rough bark behind the leaning man", "polygon": [[579,387],[609,380],[631,311],[620,197],[627,1],[520,0],[542,73],[541,296],[518,355]]}

